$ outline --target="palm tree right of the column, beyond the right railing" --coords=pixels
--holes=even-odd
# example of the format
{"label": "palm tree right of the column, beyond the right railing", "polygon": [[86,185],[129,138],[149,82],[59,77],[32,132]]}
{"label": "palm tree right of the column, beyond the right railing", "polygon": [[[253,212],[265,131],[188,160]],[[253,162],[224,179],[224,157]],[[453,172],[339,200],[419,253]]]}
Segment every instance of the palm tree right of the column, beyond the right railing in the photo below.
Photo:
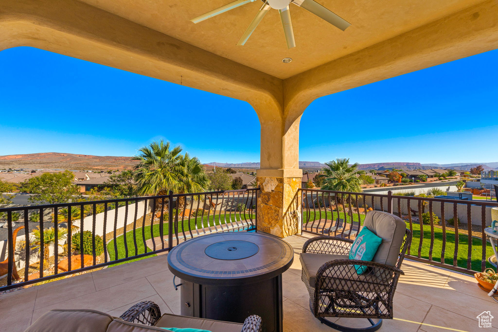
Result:
{"label": "palm tree right of the column, beyond the right railing", "polygon": [[323,190],[362,192],[360,179],[356,176],[358,163],[349,165],[349,158],[337,158],[325,165],[327,167],[322,168],[324,174],[317,175],[324,178]]}

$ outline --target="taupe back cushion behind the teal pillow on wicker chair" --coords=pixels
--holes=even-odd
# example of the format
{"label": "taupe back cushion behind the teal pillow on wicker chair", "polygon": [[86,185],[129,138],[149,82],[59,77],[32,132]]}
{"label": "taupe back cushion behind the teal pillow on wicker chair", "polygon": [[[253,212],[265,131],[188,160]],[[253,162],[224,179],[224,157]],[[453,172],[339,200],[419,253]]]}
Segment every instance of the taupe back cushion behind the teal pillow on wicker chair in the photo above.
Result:
{"label": "taupe back cushion behind the teal pillow on wicker chair", "polygon": [[372,261],[395,266],[406,231],[405,222],[386,212],[370,211],[365,216],[363,226],[382,238]]}

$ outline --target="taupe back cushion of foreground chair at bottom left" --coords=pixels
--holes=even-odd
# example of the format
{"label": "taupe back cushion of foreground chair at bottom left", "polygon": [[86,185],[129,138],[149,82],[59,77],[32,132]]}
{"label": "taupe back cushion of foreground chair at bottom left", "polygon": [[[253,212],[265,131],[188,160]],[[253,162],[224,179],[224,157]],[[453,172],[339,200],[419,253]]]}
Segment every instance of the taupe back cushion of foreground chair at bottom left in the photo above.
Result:
{"label": "taupe back cushion of foreground chair at bottom left", "polygon": [[53,309],[38,318],[26,332],[106,332],[113,317],[90,309]]}

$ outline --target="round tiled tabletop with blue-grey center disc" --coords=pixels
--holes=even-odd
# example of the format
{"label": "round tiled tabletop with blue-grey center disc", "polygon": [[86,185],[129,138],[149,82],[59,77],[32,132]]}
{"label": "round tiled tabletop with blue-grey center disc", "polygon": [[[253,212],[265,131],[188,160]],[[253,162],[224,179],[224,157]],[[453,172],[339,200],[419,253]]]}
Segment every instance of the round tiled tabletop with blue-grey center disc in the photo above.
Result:
{"label": "round tiled tabletop with blue-grey center disc", "polygon": [[265,233],[230,232],[183,242],[168,254],[170,271],[182,280],[205,285],[243,285],[286,271],[294,250]]}

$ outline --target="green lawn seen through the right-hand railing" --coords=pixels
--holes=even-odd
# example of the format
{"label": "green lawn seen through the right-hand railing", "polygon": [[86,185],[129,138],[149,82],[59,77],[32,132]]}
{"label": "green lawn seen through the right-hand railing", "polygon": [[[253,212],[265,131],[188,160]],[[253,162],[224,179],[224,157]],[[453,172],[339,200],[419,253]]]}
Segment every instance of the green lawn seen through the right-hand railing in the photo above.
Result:
{"label": "green lawn seen through the right-hand railing", "polygon": [[[318,211],[309,213],[309,221],[307,220],[308,213],[303,213],[303,223],[309,222],[308,224],[311,226],[313,220],[325,219],[325,211],[322,211],[320,214]],[[327,220],[336,220],[338,218],[337,212],[333,213],[327,211]],[[339,218],[344,219],[344,213],[339,213]],[[361,224],[365,219],[365,215],[360,215]],[[353,221],[358,222],[358,215],[353,215]],[[322,221],[323,222],[323,221]],[[350,223],[350,217],[348,216],[348,223]],[[318,226],[316,222],[315,227]],[[409,223],[406,222],[406,226],[409,228]],[[413,238],[410,246],[409,254],[412,256],[418,257],[418,246],[420,243],[420,225],[418,223],[413,223]],[[421,258],[429,258],[429,249],[431,243],[431,227],[430,225],[423,225],[424,230],[424,238],[422,241],[422,248],[420,251]],[[459,234],[458,236],[458,252],[457,252],[457,266],[467,268],[467,255],[469,250],[469,239],[467,234]],[[480,238],[473,237],[472,238],[472,254],[471,254],[471,269],[475,271],[481,271],[481,262],[482,262],[482,240]],[[493,249],[489,242],[486,242],[486,258],[493,254]],[[443,247],[443,230],[439,227],[434,227],[434,245],[432,248],[432,260],[440,262],[441,261],[441,251]],[[455,253],[455,232],[454,231],[446,231],[446,248],[444,253],[444,262],[449,265],[453,265],[453,256]],[[486,262],[486,267],[492,267],[488,262]]]}

